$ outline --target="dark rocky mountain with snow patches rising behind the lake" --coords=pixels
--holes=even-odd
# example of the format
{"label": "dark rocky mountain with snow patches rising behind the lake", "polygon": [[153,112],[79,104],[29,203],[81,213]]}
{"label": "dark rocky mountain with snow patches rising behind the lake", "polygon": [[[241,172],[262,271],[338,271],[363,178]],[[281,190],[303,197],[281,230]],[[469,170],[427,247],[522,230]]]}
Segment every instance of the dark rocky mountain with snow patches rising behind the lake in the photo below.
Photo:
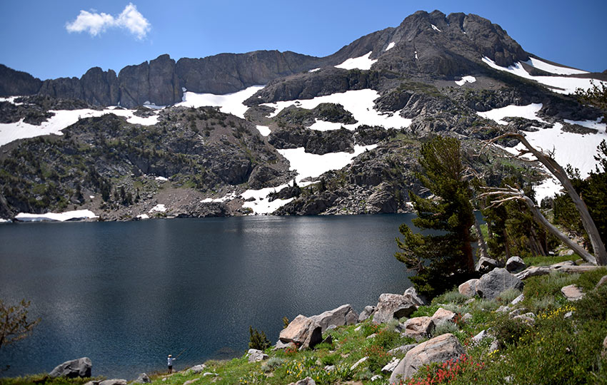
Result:
{"label": "dark rocky mountain with snow patches rising behind the lake", "polygon": [[[559,86],[604,74],[558,66],[573,72],[556,75],[547,72],[556,63],[537,60],[480,16],[419,11],[324,58],[163,55],[118,75],[91,68],[81,78],[44,82],[2,66],[0,96],[36,95],[0,101],[0,136],[41,135],[37,127],[64,135],[3,142],[0,217],[71,208],[122,220],[242,215],[261,203],[281,215],[403,212],[410,191],[425,193],[415,174],[420,145],[431,135],[461,140],[468,165],[489,183],[521,170],[537,181],[540,172],[497,159],[500,150],[479,157],[480,140],[504,129],[531,135],[556,128],[573,135],[571,143],[583,138],[596,147],[606,135],[596,123],[601,111]],[[259,84],[265,86],[248,88]],[[184,90],[191,100],[174,106]],[[243,90],[253,91],[237,101],[238,93],[221,102],[196,94]],[[168,107],[141,107],[147,102]],[[183,106],[205,103],[224,112]],[[103,108],[114,105],[134,110]],[[501,108],[518,112],[492,118]],[[57,128],[66,111],[72,120]],[[24,129],[29,133],[19,136]],[[517,142],[499,144],[508,150]],[[300,185],[287,187],[294,178]],[[276,191],[268,196],[262,188]],[[156,205],[166,211],[150,212]]]}

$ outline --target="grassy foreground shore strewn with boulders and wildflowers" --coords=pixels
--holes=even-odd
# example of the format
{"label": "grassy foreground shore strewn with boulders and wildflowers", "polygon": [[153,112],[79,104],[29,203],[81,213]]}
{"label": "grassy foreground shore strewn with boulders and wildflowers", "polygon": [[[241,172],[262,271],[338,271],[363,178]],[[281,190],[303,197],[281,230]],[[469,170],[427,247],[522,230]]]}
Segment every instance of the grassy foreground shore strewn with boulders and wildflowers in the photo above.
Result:
{"label": "grassy foreground shore strewn with boulders and wildflowers", "polygon": [[[133,382],[603,384],[596,380],[607,370],[607,268],[577,265],[568,257],[527,267],[512,257],[505,267],[481,260],[477,269],[486,272],[431,303],[411,287],[381,294],[360,314],[348,304],[311,317],[300,314],[274,347],[176,374],[141,374]],[[90,375],[86,358],[49,374]]]}

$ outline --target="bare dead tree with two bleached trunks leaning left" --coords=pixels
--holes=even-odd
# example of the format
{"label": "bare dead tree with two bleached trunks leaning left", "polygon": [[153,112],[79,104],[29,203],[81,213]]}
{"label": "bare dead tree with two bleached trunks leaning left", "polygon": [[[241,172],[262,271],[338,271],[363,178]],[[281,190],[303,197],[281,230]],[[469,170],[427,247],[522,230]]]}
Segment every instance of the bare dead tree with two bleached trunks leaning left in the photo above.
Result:
{"label": "bare dead tree with two bleached trunks leaning left", "polygon": [[[490,145],[492,143],[495,143],[496,140],[500,140],[500,139],[506,138],[506,137],[517,138],[518,140],[521,141],[521,143],[526,148],[526,150],[520,150],[517,155],[513,156],[513,158],[517,158],[520,160],[526,160],[521,157],[523,155],[531,154],[531,155],[535,156],[536,159],[541,164],[546,166],[548,171],[550,171],[550,173],[552,175],[554,175],[555,178],[558,179],[559,182],[561,182],[561,185],[563,185],[563,188],[565,189],[566,193],[571,197],[571,200],[573,200],[573,205],[575,205],[576,209],[580,213],[582,225],[583,225],[584,229],[586,230],[586,233],[588,233],[588,238],[590,238],[590,242],[591,242],[591,245],[592,245],[592,248],[594,251],[594,256],[590,255],[585,250],[582,253],[581,250],[583,250],[583,248],[579,247],[579,245],[577,248],[574,248],[573,244],[575,244],[575,245],[577,245],[577,244],[575,242],[569,240],[568,237],[563,235],[563,233],[560,232],[556,227],[554,227],[554,225],[552,225],[550,222],[548,222],[548,220],[546,220],[546,218],[543,217],[543,215],[541,215],[541,211],[539,210],[539,208],[536,207],[535,204],[533,204],[533,200],[531,200],[531,198],[527,197],[526,195],[522,194],[521,190],[514,189],[514,188],[508,188],[504,191],[500,191],[499,189],[493,189],[490,192],[485,193],[485,195],[494,195],[494,196],[498,196],[498,197],[501,196],[501,199],[494,201],[496,203],[506,202],[507,200],[515,200],[515,199],[523,200],[524,202],[526,202],[526,205],[530,208],[531,212],[533,213],[533,217],[536,217],[536,220],[538,220],[538,222],[541,222],[544,226],[546,226],[546,229],[548,229],[548,231],[552,232],[554,235],[556,235],[556,237],[561,239],[563,242],[565,242],[565,240],[563,240],[563,237],[566,240],[568,240],[568,242],[565,242],[566,245],[568,245],[569,247],[571,247],[572,250],[574,250],[579,255],[581,255],[581,257],[583,257],[584,260],[591,262],[594,265],[607,265],[607,251],[605,250],[605,245],[603,244],[603,241],[601,241],[601,237],[598,235],[598,229],[596,228],[596,225],[594,224],[594,221],[592,220],[592,217],[590,216],[590,213],[588,212],[588,207],[586,207],[586,204],[583,202],[583,200],[578,195],[578,193],[576,193],[576,190],[573,188],[573,185],[571,184],[571,180],[569,180],[566,171],[561,167],[561,165],[556,163],[556,160],[554,160],[551,157],[551,155],[548,155],[548,154],[544,153],[543,151],[534,148],[528,142],[528,140],[525,138],[525,136],[522,135],[521,133],[516,133],[516,132],[503,133],[502,135],[499,135],[496,138],[488,140],[486,142],[486,145]],[[530,202],[531,202],[531,205],[530,205]],[[555,231],[558,232],[558,234]]]}

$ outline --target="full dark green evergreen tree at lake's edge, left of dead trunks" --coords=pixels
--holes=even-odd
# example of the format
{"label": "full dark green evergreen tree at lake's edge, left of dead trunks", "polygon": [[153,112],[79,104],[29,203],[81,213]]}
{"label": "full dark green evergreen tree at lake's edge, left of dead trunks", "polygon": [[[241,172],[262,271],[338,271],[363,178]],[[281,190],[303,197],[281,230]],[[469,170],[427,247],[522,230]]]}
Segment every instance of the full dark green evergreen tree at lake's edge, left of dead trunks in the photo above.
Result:
{"label": "full dark green evergreen tree at lake's edge, left of dead trunks", "polygon": [[435,297],[475,273],[471,242],[474,223],[471,189],[464,178],[460,143],[437,136],[421,147],[419,159],[425,173],[419,180],[435,196],[422,198],[410,193],[418,217],[413,225],[422,230],[441,230],[440,235],[414,234],[402,224],[396,238],[397,260],[416,271],[411,282],[420,294]]}

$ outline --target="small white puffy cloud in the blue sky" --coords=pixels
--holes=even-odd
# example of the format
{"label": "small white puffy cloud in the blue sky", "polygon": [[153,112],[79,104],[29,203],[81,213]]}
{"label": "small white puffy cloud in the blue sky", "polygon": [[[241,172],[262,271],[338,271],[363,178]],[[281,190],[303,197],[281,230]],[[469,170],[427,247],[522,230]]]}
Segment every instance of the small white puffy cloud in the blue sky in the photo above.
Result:
{"label": "small white puffy cloud in the blue sky", "polygon": [[137,36],[137,39],[144,39],[151,24],[131,3],[117,17],[94,10],[80,11],[76,20],[66,24],[68,32],[88,32],[91,36],[97,36],[109,28],[123,28]]}

